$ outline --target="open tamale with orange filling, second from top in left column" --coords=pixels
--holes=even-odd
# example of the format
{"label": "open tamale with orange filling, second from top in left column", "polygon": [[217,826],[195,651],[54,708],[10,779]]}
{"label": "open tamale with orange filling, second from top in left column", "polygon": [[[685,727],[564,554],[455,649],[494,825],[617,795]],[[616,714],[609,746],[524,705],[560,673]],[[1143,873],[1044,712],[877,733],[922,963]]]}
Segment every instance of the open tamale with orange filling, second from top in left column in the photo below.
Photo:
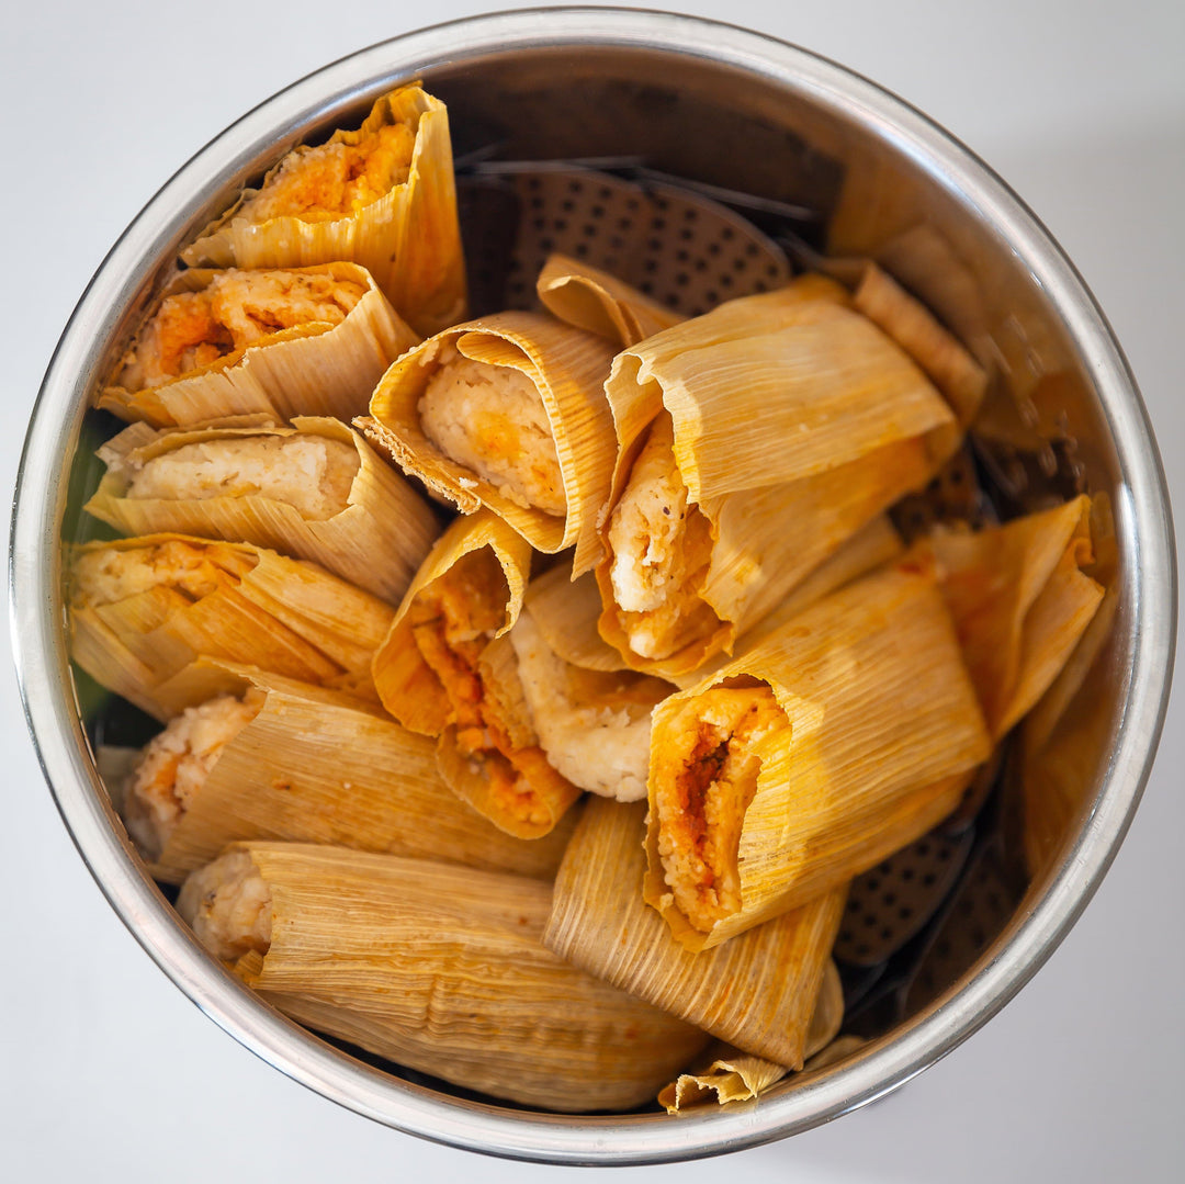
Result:
{"label": "open tamale with orange filling, second from top in left column", "polygon": [[165,289],[96,403],[156,428],[254,414],[350,420],[418,340],[353,263],[198,268]]}

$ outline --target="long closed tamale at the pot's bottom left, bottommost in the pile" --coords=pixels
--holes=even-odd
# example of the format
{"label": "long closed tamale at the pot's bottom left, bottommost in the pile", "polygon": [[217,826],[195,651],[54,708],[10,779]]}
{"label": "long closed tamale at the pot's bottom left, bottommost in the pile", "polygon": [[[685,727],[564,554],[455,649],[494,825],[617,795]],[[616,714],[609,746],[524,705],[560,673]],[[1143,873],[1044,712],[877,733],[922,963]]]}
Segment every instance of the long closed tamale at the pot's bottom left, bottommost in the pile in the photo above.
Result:
{"label": "long closed tamale at the pot's bottom left, bottommost in the pile", "polygon": [[218,928],[209,871],[179,901],[199,936],[224,954],[239,937],[236,969],[294,1019],[412,1069],[526,1106],[619,1111],[707,1041],[546,949],[539,881],[333,847],[232,851],[262,877],[246,898],[270,896],[255,908],[270,941]]}

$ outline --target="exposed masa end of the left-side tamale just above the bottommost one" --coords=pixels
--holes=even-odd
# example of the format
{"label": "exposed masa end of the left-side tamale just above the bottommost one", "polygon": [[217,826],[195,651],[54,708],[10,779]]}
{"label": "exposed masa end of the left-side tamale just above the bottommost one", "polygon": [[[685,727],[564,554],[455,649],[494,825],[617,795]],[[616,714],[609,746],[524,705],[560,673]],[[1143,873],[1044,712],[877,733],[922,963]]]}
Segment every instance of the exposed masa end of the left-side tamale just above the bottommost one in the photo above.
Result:
{"label": "exposed masa end of the left-side tamale just above the bottommost one", "polygon": [[219,696],[186,708],[145,745],[128,780],[123,812],[129,833],[149,859],[160,857],[223,749],[260,706],[256,697]]}

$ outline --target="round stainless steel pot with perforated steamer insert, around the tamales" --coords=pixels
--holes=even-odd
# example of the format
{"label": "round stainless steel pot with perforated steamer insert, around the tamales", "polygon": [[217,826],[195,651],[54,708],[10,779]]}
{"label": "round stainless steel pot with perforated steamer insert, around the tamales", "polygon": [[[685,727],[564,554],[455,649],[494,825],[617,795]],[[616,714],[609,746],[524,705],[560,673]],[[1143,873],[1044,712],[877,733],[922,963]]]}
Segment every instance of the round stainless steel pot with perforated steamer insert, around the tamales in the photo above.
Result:
{"label": "round stainless steel pot with perforated steamer insert, around the tamales", "polygon": [[[845,1031],[865,1043],[760,1103],[679,1120],[562,1116],[364,1062],[277,1015],[200,949],[96,773],[102,721],[79,708],[62,591],[63,544],[87,530],[95,385],[179,247],[244,183],[417,77],[449,107],[476,312],[523,303],[551,249],[616,267],[686,313],[792,267],[843,279],[847,261],[872,258],[992,375],[961,463],[902,507],[898,525],[1008,514],[1080,489],[1109,503],[1109,633],[1049,737],[1059,809],[1032,833],[1006,753],[955,819],[861,877],[837,956]],[[281,1071],[402,1131],[602,1165],[803,1131],[908,1081],[993,1016],[1065,935],[1123,838],[1164,717],[1176,613],[1167,494],[1139,393],[1072,265],[1008,188],[905,103],[803,50],[606,8],[481,17],[373,46],[263,103],[177,173],[100,268],[50,365],[21,465],[11,578],[27,717],[63,818],[124,923],[203,1011]]]}

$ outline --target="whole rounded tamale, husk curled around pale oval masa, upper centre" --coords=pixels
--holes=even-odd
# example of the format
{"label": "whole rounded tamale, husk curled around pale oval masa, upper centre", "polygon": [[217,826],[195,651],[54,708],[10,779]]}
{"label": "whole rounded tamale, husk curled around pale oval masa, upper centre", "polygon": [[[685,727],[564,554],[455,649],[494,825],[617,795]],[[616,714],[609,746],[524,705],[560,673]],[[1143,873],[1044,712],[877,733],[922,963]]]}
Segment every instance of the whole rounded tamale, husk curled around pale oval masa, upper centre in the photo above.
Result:
{"label": "whole rounded tamale, husk curled around pale oval masa, upper centre", "polygon": [[364,430],[462,513],[485,505],[539,551],[600,543],[617,454],[603,383],[613,346],[543,313],[438,333],[383,376]]}

